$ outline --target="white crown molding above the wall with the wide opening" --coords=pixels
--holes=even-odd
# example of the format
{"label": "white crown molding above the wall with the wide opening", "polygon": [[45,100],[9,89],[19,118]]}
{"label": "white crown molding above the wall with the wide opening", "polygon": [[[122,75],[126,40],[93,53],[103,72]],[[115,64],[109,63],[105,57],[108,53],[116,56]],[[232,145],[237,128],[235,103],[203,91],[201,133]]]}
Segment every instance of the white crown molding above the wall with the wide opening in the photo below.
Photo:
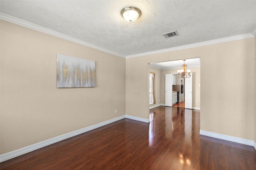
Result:
{"label": "white crown molding above the wall with the wide opening", "polygon": [[[254,34],[256,34],[256,28],[254,29]],[[211,40],[211,41],[204,41],[204,42],[201,42],[201,43],[182,45],[182,46],[179,46],[179,47],[173,47],[173,48],[169,48],[169,49],[151,51],[151,52],[140,53],[140,54],[135,54],[135,55],[128,55],[128,56],[126,56],[126,59],[134,58],[134,57],[141,57],[141,56],[145,56],[145,55],[153,55],[153,54],[159,54],[159,53],[166,53],[166,52],[177,51],[177,50],[182,50],[182,49],[189,49],[189,48],[194,48],[194,47],[201,47],[201,46],[205,46],[205,45],[224,43],[224,42],[228,42],[228,41],[235,41],[235,40],[240,40],[240,39],[252,38],[254,36],[255,35],[253,35],[252,33],[243,34],[243,35],[236,35],[236,36],[232,36],[232,37],[215,39],[215,40]]]}

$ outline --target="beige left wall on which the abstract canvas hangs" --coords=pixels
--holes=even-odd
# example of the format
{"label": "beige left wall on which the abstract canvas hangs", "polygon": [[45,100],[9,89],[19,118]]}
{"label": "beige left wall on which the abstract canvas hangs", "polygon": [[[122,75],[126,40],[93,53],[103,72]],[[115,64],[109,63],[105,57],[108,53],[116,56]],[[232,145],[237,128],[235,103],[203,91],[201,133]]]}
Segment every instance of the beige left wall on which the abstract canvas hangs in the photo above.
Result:
{"label": "beige left wall on which the abstract canvas hangs", "polygon": [[[125,115],[125,59],[0,24],[1,154]],[[57,53],[96,61],[96,87],[56,88]]]}

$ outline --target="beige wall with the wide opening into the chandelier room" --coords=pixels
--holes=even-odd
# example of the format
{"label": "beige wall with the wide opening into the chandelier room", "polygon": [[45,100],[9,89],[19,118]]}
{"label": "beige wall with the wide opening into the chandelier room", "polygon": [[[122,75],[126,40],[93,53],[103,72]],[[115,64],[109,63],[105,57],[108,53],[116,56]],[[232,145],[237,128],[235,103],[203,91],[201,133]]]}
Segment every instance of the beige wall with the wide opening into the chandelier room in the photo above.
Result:
{"label": "beige wall with the wide opening into the chandelier room", "polygon": [[149,117],[148,63],[200,57],[201,130],[254,140],[254,41],[126,59],[126,114]]}

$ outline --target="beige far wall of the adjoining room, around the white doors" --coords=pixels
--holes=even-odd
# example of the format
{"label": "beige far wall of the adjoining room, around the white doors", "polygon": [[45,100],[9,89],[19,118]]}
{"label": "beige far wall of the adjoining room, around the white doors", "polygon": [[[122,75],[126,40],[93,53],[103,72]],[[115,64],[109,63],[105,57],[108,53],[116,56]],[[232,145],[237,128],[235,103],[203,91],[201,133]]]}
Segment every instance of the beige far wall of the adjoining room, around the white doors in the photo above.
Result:
{"label": "beige far wall of the adjoining room, around the white doors", "polygon": [[[200,67],[188,68],[192,76],[192,107],[200,108]],[[177,69],[162,70],[161,73],[161,104],[165,104],[165,74],[176,73]]]}

